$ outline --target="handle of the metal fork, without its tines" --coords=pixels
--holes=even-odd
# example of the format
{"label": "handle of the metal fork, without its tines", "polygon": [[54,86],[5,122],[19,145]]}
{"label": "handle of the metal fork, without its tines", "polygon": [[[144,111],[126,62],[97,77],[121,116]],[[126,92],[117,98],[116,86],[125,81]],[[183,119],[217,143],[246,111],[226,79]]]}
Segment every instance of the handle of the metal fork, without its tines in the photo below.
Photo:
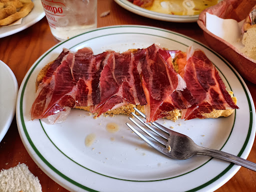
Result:
{"label": "handle of the metal fork, without its tines", "polygon": [[251,162],[249,160],[243,159],[241,157],[232,155],[230,153],[227,153],[227,152],[224,152],[221,150],[215,150],[215,149],[205,148],[205,147],[200,147],[200,149],[201,150],[198,151],[196,154],[220,158],[220,159],[230,161],[235,164],[238,164],[238,165],[241,165],[241,166],[244,166],[246,168],[256,171],[256,163]]}

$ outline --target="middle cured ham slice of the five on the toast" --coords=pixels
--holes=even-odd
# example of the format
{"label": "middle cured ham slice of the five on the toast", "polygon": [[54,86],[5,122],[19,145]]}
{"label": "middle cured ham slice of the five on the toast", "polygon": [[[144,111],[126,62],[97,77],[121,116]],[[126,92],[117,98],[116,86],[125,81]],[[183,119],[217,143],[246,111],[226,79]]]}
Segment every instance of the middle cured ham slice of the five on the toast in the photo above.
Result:
{"label": "middle cured ham slice of the five on the toast", "polygon": [[97,116],[127,103],[146,104],[134,56],[130,51],[111,52],[100,76],[100,102],[91,107]]}

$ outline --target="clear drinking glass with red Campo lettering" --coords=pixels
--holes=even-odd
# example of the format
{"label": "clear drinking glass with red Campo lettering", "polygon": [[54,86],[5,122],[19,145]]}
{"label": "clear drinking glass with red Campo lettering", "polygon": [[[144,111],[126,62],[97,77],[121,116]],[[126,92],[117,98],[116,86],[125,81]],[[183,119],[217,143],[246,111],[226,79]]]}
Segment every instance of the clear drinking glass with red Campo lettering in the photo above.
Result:
{"label": "clear drinking glass with red Campo lettering", "polygon": [[52,35],[66,40],[97,27],[97,0],[41,0]]}

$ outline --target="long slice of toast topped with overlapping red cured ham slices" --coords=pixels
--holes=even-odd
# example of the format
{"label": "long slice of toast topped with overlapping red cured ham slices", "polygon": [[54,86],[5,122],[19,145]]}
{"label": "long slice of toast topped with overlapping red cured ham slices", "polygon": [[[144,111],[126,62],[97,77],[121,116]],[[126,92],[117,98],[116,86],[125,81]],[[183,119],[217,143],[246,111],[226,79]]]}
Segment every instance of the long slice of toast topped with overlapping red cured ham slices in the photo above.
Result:
{"label": "long slice of toast topped with overlapping red cured ham slices", "polygon": [[[174,69],[175,68],[175,69]],[[91,48],[63,48],[36,79],[31,119],[61,122],[70,108],[129,114],[137,107],[147,122],[158,118],[216,118],[230,115],[236,98],[225,89],[203,51],[167,50],[156,44],[94,55]]]}

